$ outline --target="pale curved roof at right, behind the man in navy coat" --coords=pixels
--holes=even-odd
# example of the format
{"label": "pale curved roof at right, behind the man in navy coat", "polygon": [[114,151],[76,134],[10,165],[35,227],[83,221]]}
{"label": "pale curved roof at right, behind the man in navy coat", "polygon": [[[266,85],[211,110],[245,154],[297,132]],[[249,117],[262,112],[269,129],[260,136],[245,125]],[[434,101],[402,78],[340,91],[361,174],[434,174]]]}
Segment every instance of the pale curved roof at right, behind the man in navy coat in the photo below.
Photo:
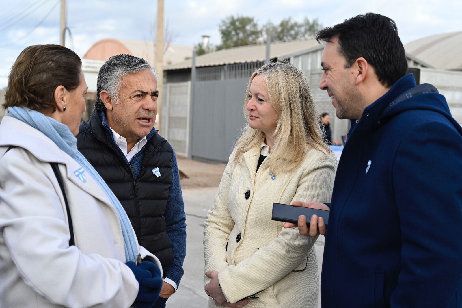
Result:
{"label": "pale curved roof at right, behind the man in navy coat", "polygon": [[420,38],[404,49],[435,68],[462,70],[462,31]]}

